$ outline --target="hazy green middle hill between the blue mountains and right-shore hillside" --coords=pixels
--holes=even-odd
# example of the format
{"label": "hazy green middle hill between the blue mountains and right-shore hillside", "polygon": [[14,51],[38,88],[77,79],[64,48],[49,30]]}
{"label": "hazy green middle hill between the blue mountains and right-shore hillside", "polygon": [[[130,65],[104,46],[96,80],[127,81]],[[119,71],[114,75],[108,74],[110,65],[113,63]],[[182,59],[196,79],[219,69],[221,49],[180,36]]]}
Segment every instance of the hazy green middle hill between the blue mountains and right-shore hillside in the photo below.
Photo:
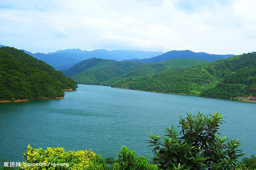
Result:
{"label": "hazy green middle hill between the blue mountains and right-shore hillside", "polygon": [[63,70],[68,77],[81,84],[97,84],[111,86],[116,80],[127,77],[153,75],[170,68],[185,68],[207,63],[199,59],[173,59],[159,63],[136,63],[113,61],[108,59],[87,59],[77,65]]}

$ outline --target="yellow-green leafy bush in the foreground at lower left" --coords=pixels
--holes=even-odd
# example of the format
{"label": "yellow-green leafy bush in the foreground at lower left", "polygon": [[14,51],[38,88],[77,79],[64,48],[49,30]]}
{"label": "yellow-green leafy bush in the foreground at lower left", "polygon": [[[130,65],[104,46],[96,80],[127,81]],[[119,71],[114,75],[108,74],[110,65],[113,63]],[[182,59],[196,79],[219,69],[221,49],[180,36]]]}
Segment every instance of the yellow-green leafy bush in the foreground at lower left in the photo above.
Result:
{"label": "yellow-green leafy bush in the foreground at lower left", "polygon": [[108,168],[93,151],[65,151],[63,148],[33,149],[28,145],[20,169],[104,169]]}

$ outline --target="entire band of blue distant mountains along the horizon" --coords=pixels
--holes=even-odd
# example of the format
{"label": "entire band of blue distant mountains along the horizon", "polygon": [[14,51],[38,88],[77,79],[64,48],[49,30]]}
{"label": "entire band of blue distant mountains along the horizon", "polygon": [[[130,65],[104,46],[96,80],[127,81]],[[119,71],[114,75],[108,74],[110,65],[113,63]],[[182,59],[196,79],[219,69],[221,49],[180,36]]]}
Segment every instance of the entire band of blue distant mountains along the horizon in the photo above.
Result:
{"label": "entire band of blue distant mountains along the horizon", "polygon": [[[2,47],[4,45],[0,45]],[[100,58],[111,59],[115,61],[133,61],[138,63],[156,63],[159,61],[170,61],[171,59],[189,58],[202,59],[205,61],[216,61],[218,59],[230,58],[234,55],[218,55],[207,54],[205,52],[192,52],[191,50],[172,50],[163,52],[145,52],[141,50],[81,50],[81,49],[65,49],[47,54],[23,50],[34,58],[45,61],[45,63],[53,66],[56,70],[66,70],[73,65],[83,61],[84,59]]]}

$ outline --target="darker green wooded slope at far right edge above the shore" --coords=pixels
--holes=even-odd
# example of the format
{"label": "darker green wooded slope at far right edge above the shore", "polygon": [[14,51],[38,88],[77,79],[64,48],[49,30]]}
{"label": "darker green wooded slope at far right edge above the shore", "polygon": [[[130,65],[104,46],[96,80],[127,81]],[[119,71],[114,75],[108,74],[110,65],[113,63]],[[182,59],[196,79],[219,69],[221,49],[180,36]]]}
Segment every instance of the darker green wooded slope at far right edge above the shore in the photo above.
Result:
{"label": "darker green wooded slope at far right edge above the shore", "polygon": [[[240,60],[239,65],[237,61]],[[236,98],[256,100],[256,52],[243,54],[229,61],[230,74],[223,76],[223,81],[216,86],[202,91],[202,97]],[[237,70],[237,71],[235,71]],[[246,97],[246,98],[244,98]]]}

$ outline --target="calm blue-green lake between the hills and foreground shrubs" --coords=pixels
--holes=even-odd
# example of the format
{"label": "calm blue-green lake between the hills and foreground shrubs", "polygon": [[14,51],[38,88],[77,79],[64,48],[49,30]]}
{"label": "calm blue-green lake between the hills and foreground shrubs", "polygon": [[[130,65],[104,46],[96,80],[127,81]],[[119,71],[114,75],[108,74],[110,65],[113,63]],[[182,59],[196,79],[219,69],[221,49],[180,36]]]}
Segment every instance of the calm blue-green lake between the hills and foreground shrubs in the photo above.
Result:
{"label": "calm blue-green lake between the hills and foreground shrubs", "polygon": [[[22,161],[32,148],[63,147],[92,150],[103,157],[117,157],[122,146],[149,157],[145,140],[149,132],[163,135],[186,112],[225,117],[221,136],[239,139],[246,157],[256,154],[256,104],[79,85],[60,100],[31,100],[0,104],[0,159]],[[2,165],[2,163],[0,164]]]}

